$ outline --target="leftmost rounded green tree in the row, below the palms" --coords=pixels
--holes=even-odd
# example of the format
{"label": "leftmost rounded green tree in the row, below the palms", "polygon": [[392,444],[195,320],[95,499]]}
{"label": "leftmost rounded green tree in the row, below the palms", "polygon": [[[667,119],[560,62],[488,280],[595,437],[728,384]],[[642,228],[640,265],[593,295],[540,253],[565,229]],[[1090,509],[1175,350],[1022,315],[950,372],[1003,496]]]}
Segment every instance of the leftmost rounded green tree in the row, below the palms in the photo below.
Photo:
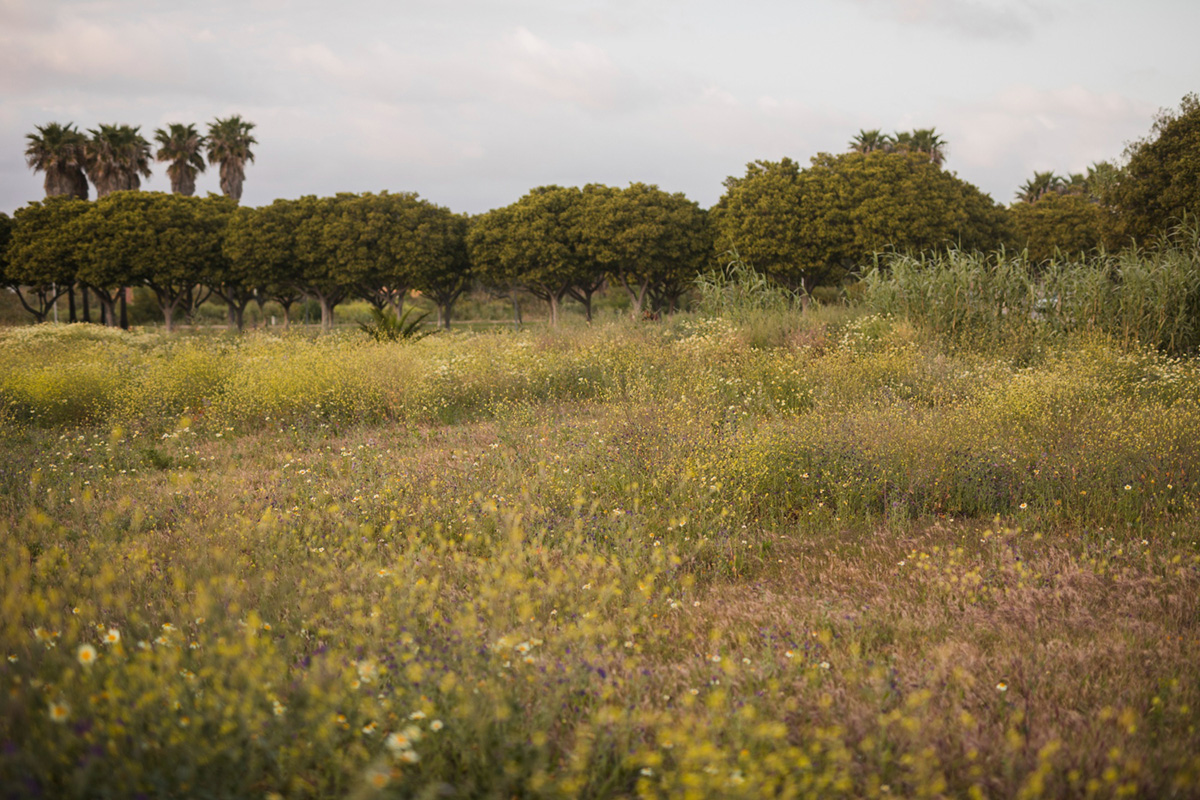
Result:
{"label": "leftmost rounded green tree in the row, below the palms", "polygon": [[79,198],[55,196],[13,215],[5,284],[38,323],[76,281],[79,264],[71,231],[89,207]]}

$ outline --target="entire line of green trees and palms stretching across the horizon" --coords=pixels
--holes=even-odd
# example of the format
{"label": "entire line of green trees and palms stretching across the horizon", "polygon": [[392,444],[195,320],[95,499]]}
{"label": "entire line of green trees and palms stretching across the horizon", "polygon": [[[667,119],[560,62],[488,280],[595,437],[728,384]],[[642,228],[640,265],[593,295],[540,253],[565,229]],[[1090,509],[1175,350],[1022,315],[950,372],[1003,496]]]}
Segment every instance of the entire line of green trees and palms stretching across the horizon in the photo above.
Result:
{"label": "entire line of green trees and palms stretching across the horizon", "polygon": [[[52,127],[38,128],[41,139]],[[120,289],[139,285],[152,291],[168,329],[210,297],[224,301],[235,326],[251,302],[280,303],[287,321],[290,307],[311,297],[329,327],[348,299],[398,315],[412,290],[432,300],[449,326],[456,300],[474,285],[509,297],[516,321],[522,296],[542,300],[553,324],[566,299],[590,319],[593,296],[606,284],[628,294],[635,317],[670,311],[730,251],[803,294],[839,284],[882,251],[1026,248],[1040,261],[1148,241],[1174,219],[1200,213],[1195,95],[1180,112],[1163,112],[1123,167],[1100,163],[1069,178],[1037,173],[1009,207],[943,168],[946,142],[934,128],[860,131],[847,152],[818,154],[808,167],[752,162],[725,181],[709,210],[646,184],[544,186],[474,217],[388,192],[239,207],[241,169],[257,144],[252,127],[230,118],[210,125],[208,137],[194,126],[157,131],[173,194],[137,191],[142,173],[130,167],[137,158],[96,166],[101,152],[125,152],[116,146],[79,144],[78,174],[65,158],[54,166],[30,156],[47,173],[48,197],[11,219],[0,215],[0,279],[38,320],[64,293],[76,319],[78,290],[84,318],[95,300],[102,319],[116,324]],[[221,164],[224,196],[192,197],[203,149]],[[83,199],[85,191],[60,191],[79,180],[85,190],[88,178],[95,203]]]}

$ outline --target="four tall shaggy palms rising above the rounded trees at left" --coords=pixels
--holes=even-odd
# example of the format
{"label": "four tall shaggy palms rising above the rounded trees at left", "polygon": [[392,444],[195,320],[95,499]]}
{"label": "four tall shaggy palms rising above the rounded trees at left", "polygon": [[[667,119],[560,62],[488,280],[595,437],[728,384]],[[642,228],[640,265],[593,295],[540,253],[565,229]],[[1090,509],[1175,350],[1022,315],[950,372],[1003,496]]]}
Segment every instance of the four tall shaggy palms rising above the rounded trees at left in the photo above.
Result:
{"label": "four tall shaggy palms rising above the rounded trees at left", "polygon": [[150,178],[150,161],[167,162],[170,191],[191,197],[196,193],[196,175],[209,164],[220,164],[221,191],[235,203],[241,199],[246,162],[254,161],[251,146],[258,144],[251,131],[253,122],[234,115],[209,124],[208,136],[194,125],[169,125],[155,131],[158,151],[142,136],[142,128],[130,125],[101,125],[86,133],[71,122],[49,122],[25,136],[25,162],[35,173],[44,174],[46,197],[88,199],[88,181],[96,186],[96,197],[137,190],[143,178]]}

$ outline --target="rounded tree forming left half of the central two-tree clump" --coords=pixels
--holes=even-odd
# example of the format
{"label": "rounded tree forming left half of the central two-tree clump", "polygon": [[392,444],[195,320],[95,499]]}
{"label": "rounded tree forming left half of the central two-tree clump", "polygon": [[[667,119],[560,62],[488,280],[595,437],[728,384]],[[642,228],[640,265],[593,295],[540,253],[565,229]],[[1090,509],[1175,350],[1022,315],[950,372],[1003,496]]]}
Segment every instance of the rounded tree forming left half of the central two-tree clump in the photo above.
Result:
{"label": "rounded tree forming left half of the central two-tree clump", "polygon": [[520,285],[550,305],[550,324],[568,291],[587,279],[593,264],[583,258],[578,188],[541,186],[516,203],[473,221],[468,234],[472,263],[492,285]]}

